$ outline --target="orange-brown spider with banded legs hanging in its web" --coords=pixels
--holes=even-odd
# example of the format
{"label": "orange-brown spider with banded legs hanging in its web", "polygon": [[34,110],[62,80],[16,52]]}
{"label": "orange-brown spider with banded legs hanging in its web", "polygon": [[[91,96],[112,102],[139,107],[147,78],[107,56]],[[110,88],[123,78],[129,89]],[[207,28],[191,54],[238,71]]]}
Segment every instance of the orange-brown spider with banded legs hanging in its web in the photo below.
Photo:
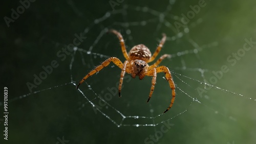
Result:
{"label": "orange-brown spider with banded legs hanging in its web", "polygon": [[[122,63],[117,57],[110,57],[109,59],[105,60],[101,65],[97,66],[94,70],[89,72],[86,76],[82,78],[82,80],[78,83],[76,89],[78,89],[79,85],[86,80],[89,76],[92,76],[93,74],[99,72],[101,69],[104,67],[108,66],[111,62],[113,62],[115,65],[117,65],[122,71],[121,71],[121,76],[120,76],[120,81],[119,81],[119,97],[121,97],[121,87],[123,83],[123,77],[125,72],[129,73],[132,75],[133,78],[136,76],[139,77],[139,79],[143,79],[145,76],[152,76],[152,85],[151,85],[151,91],[150,95],[148,96],[148,99],[146,102],[150,101],[151,96],[153,94],[153,91],[155,89],[155,84],[156,84],[156,78],[157,78],[157,73],[164,72],[165,73],[165,78],[169,82],[169,87],[172,89],[172,99],[170,101],[169,107],[163,112],[165,113],[168,111],[174,103],[175,100],[175,84],[172,78],[172,75],[170,74],[169,69],[166,66],[159,66],[158,65],[162,62],[163,59],[166,57],[170,57],[169,54],[164,54],[162,55],[153,65],[149,66],[147,63],[150,63],[155,60],[156,56],[160,52],[165,40],[166,40],[166,35],[162,34],[162,40],[160,41],[160,44],[158,45],[156,51],[154,54],[151,54],[150,49],[148,49],[145,45],[139,44],[134,46],[129,54],[126,51],[126,47],[124,45],[124,40],[122,35],[117,32],[116,30],[110,30],[110,33],[115,34],[121,44],[121,49],[123,56],[125,57],[126,61]],[[152,55],[152,56],[151,56]]]}

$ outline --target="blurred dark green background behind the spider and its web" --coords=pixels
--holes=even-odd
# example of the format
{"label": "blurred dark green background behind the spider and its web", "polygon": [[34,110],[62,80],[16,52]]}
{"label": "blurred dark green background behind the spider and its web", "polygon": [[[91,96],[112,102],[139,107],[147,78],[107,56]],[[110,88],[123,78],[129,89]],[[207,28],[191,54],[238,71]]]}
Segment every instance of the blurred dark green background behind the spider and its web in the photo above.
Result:
{"label": "blurred dark green background behind the spider and its web", "polygon": [[[182,14],[187,15],[199,3],[205,6],[190,15],[178,32],[175,23],[181,24]],[[227,61],[232,53],[241,51],[245,39],[256,42],[255,4],[253,0],[35,1],[8,27],[4,18],[11,18],[11,9],[17,10],[22,4],[5,1],[0,24],[1,86],[8,87],[10,113],[8,141],[3,139],[3,122],[0,124],[1,143],[61,143],[62,137],[66,143],[255,143],[255,44],[239,60],[230,58],[236,60],[233,66]],[[99,97],[115,89],[121,72],[118,67],[111,64],[83,83],[80,90],[86,98],[75,89],[71,82],[78,83],[107,57],[124,61],[118,39],[106,34],[105,28],[118,30],[128,51],[142,43],[154,52],[161,34],[167,35],[159,56],[173,56],[161,65],[172,71],[177,95],[174,106],[164,115],[157,117],[169,105],[171,91],[163,73],[157,76],[149,104],[145,101],[151,77],[139,80],[127,74],[122,97],[114,95],[108,101],[110,106],[102,108],[117,125],[129,126],[117,127],[99,111],[95,113],[86,99],[99,105]],[[58,51],[80,33],[86,39],[62,61]],[[53,60],[59,66],[32,89],[37,93],[30,93],[27,82],[33,83],[34,74],[39,75],[42,66]],[[197,89],[208,87],[201,82],[209,81],[212,71],[220,71],[223,65],[229,71],[200,96]],[[27,96],[20,98],[23,95]],[[117,110],[140,118],[122,122]],[[173,126],[163,133],[161,122]],[[142,126],[145,124],[157,126]],[[145,141],[159,132],[162,136],[156,141]]]}

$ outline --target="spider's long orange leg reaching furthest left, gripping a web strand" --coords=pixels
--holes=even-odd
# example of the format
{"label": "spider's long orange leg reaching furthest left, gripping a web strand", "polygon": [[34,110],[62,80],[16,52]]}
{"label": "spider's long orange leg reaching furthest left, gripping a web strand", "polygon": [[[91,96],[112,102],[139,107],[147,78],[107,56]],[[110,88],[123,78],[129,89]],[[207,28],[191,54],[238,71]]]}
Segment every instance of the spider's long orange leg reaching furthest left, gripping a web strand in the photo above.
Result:
{"label": "spider's long orange leg reaching furthest left, gripping a web strand", "polygon": [[117,57],[110,57],[109,59],[105,60],[101,65],[97,66],[94,70],[89,72],[86,76],[82,78],[82,80],[78,83],[76,89],[78,89],[79,85],[83,83],[84,80],[86,80],[89,76],[92,76],[96,72],[100,71],[104,67],[108,66],[110,62],[113,62],[115,65],[117,65],[120,69],[123,68],[123,63],[117,58]]}

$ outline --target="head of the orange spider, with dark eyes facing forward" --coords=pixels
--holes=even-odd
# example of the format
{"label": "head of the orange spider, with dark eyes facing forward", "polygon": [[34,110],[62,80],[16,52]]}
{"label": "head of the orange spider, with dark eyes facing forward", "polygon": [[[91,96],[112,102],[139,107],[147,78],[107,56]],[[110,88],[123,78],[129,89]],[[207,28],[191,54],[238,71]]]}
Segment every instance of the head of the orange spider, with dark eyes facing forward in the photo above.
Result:
{"label": "head of the orange spider, with dark eyes facing forward", "polygon": [[147,67],[147,63],[142,60],[135,60],[133,63],[133,69],[134,69],[134,77],[138,75],[140,79],[142,79],[144,76],[143,72],[145,72]]}

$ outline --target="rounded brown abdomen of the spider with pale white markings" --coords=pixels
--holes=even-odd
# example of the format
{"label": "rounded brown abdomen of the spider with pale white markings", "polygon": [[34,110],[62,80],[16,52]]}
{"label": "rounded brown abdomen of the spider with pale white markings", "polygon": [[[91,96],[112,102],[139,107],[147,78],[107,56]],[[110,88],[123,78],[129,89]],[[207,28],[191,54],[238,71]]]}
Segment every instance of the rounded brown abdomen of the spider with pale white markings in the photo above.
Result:
{"label": "rounded brown abdomen of the spider with pale white markings", "polygon": [[130,50],[129,56],[131,60],[142,60],[147,62],[150,60],[151,51],[145,45],[139,44]]}

